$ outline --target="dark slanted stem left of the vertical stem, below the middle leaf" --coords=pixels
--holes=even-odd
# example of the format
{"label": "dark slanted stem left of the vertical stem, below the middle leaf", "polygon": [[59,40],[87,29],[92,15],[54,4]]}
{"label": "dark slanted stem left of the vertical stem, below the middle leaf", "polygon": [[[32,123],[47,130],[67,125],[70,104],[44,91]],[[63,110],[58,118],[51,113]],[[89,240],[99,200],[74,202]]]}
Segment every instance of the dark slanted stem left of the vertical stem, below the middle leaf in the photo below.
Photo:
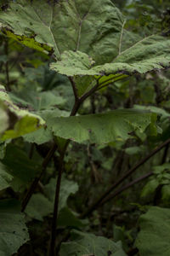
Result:
{"label": "dark slanted stem left of the vertical stem, below the middle leaf", "polygon": [[22,208],[21,208],[21,211],[24,212],[25,209],[26,209],[26,206],[28,204],[28,202],[30,201],[31,199],[31,196],[32,194],[34,193],[35,189],[37,188],[37,184],[40,180],[40,178],[42,177],[42,174],[43,172],[45,172],[47,166],[48,166],[48,163],[49,161],[52,159],[54,153],[55,153],[55,150],[57,149],[57,145],[56,143],[53,144],[52,148],[50,148],[50,150],[48,151],[48,154],[47,156],[45,157],[45,159],[43,160],[42,162],[42,171],[39,173],[38,177],[36,177],[33,181],[33,183],[31,183],[31,187],[30,189],[28,190],[27,194],[26,194],[26,197],[24,198],[24,200],[22,201]]}

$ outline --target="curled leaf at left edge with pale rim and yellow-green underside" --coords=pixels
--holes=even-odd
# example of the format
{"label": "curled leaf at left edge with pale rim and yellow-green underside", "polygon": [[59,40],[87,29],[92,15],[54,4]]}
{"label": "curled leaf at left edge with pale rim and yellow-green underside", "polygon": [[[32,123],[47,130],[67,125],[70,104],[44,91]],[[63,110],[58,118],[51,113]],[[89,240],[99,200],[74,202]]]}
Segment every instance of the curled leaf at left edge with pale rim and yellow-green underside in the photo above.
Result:
{"label": "curled leaf at left edge with pale rim and yellow-green underside", "polygon": [[45,123],[44,120],[28,110],[19,108],[11,101],[8,93],[2,85],[0,85],[0,100],[8,109],[8,129],[3,132],[1,139],[20,137],[31,131],[36,131]]}

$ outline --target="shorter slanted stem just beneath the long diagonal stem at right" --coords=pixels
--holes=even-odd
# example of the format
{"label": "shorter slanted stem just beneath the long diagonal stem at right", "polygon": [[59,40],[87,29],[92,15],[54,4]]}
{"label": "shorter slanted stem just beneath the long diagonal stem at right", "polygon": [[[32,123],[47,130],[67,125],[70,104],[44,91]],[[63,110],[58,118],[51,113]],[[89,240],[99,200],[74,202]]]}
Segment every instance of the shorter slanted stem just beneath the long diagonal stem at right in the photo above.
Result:
{"label": "shorter slanted stem just beneath the long diagonal stem at right", "polygon": [[101,201],[99,206],[103,206],[106,202],[111,201],[111,199],[115,198],[116,195],[121,194],[124,190],[131,188],[134,184],[139,183],[140,181],[144,180],[147,177],[150,177],[151,175],[153,175],[153,172],[148,172],[143,176],[136,178],[131,183],[127,183],[126,185],[122,186],[122,188],[117,189],[114,194],[108,195],[107,197],[105,197],[105,199]]}

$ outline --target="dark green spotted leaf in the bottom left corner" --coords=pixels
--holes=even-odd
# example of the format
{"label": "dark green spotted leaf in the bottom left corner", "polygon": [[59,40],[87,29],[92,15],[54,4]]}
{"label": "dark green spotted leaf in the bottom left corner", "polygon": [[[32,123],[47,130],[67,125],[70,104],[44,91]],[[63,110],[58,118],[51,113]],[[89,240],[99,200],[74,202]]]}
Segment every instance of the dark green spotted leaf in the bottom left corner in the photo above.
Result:
{"label": "dark green spotted leaf in the bottom left corner", "polygon": [[17,201],[0,201],[0,223],[0,255],[11,256],[29,240],[24,214]]}

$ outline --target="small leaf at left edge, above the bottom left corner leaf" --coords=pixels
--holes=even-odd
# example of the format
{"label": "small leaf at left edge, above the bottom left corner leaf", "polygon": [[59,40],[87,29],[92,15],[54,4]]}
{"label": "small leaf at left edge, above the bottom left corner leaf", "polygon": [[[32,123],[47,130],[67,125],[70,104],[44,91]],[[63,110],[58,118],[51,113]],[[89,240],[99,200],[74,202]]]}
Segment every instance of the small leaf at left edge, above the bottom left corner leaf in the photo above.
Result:
{"label": "small leaf at left edge, above the bottom left corner leaf", "polygon": [[8,188],[12,179],[13,176],[10,175],[5,166],[0,163],[0,190]]}

